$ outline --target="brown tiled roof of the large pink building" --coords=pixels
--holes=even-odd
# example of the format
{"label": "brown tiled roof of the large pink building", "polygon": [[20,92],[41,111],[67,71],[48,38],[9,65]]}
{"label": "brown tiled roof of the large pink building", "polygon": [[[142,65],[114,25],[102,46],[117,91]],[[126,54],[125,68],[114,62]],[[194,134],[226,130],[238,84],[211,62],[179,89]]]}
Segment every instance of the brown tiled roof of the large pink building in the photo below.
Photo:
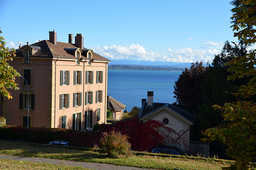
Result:
{"label": "brown tiled roof of the large pink building", "polygon": [[[66,51],[64,48],[77,48],[75,44],[72,43],[64,43],[57,42],[57,45],[54,45],[48,40],[42,40],[40,42],[36,42],[30,45],[40,47],[41,49],[34,53],[31,57],[61,57],[61,58],[75,58],[74,54],[70,51]],[[86,48],[84,48],[86,49]],[[21,49],[16,50],[16,55],[22,57]],[[86,52],[82,52],[82,59],[87,59]],[[97,53],[92,54],[93,60],[101,60],[101,61],[110,61]]]}

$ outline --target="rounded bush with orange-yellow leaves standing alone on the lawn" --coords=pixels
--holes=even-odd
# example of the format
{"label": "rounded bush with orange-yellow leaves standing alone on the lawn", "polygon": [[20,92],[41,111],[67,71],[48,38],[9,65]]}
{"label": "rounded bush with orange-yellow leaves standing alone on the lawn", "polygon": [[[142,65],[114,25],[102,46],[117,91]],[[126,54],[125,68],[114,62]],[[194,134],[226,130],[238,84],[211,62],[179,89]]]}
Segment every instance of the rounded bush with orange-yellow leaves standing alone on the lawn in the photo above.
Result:
{"label": "rounded bush with orange-yellow leaves standing alone on the lawn", "polygon": [[119,155],[130,155],[131,144],[126,135],[112,130],[110,133],[103,132],[100,139],[101,152],[107,153],[108,157],[115,158]]}

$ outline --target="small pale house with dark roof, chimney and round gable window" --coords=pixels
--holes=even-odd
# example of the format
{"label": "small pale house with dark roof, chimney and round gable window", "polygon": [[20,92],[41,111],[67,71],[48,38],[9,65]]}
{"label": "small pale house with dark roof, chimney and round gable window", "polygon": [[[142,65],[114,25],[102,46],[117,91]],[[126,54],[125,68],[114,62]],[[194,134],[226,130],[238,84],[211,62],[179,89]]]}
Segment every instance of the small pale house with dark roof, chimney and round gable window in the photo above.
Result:
{"label": "small pale house with dark roof, chimney and round gable window", "polygon": [[[194,124],[195,116],[169,104],[153,102],[154,91],[148,91],[148,101],[142,99],[142,108],[138,119],[141,122],[155,120],[172,129],[168,134],[166,145],[176,146],[184,151],[189,149],[190,125]],[[163,129],[164,130],[164,129]],[[163,133],[166,133],[163,131]]]}

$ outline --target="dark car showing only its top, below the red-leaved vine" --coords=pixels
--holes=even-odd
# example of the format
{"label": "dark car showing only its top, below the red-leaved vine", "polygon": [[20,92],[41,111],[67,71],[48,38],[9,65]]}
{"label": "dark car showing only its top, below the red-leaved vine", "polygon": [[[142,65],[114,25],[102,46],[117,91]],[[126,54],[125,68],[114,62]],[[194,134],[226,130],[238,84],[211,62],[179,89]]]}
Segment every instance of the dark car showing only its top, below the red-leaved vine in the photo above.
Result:
{"label": "dark car showing only its top, below the red-leaved vine", "polygon": [[160,153],[160,154],[173,154],[173,155],[184,155],[185,153],[176,147],[173,146],[155,146],[150,151],[152,153]]}

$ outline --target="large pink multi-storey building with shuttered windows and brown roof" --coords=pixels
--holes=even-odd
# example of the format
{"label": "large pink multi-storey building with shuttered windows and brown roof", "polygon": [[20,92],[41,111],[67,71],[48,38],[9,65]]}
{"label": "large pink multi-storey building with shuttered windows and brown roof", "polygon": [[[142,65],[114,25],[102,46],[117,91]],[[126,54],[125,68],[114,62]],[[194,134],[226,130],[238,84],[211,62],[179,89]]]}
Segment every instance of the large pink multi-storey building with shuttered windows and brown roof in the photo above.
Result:
{"label": "large pink multi-storey building with shuttered windows and brown roof", "polygon": [[[19,90],[10,90],[13,99],[3,99],[6,125],[73,128],[86,130],[106,123],[108,63],[84,48],[84,37],[68,35],[68,43],[49,40],[24,45],[9,61],[22,77]],[[28,86],[27,86],[28,83]],[[29,108],[29,117],[28,117]]]}

